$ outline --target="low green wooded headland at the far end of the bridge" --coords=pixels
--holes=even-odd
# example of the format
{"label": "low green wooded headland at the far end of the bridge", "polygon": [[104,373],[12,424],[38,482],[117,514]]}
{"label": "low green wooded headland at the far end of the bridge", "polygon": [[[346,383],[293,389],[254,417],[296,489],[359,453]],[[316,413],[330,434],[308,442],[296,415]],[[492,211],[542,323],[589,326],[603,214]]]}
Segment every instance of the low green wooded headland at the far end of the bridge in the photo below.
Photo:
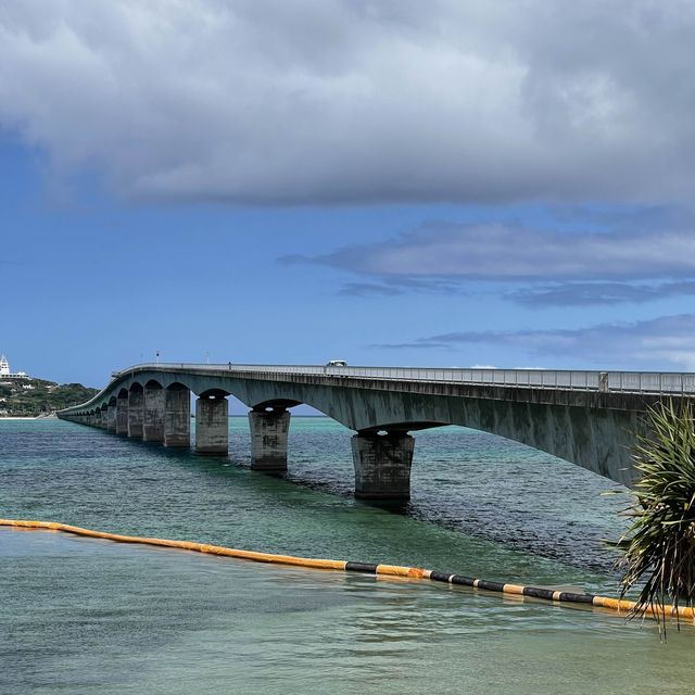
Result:
{"label": "low green wooded headland at the far end of the bridge", "polygon": [[0,417],[37,417],[91,399],[98,389],[45,379],[0,378]]}

